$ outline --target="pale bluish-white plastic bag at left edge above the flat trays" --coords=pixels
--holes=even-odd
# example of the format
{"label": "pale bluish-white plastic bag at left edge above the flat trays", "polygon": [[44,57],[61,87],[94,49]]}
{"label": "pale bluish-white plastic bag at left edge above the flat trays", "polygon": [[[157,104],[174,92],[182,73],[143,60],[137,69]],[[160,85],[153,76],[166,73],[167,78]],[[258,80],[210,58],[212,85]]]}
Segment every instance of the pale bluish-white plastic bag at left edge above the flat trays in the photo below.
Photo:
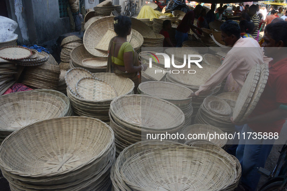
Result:
{"label": "pale bluish-white plastic bag at left edge above the flat trays", "polygon": [[7,42],[14,40],[18,37],[15,34],[18,24],[16,21],[7,18],[5,16],[0,16],[0,42]]}

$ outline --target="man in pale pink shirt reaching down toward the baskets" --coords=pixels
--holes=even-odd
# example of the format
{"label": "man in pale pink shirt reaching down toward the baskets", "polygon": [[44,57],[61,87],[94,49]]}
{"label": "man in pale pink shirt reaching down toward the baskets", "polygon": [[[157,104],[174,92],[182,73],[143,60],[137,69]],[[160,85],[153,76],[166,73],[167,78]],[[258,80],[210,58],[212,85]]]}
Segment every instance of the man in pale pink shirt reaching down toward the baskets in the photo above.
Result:
{"label": "man in pale pink shirt reaching down toward the baskets", "polygon": [[[227,76],[230,76],[234,83],[226,82],[228,92],[239,93],[246,74],[251,70],[254,64],[263,63],[262,50],[256,40],[253,38],[241,38],[239,25],[232,20],[225,21],[221,26],[221,40],[226,46],[233,47],[225,56],[222,65],[217,71],[203,84],[199,90],[192,93],[191,96],[201,96],[210,94],[210,92]],[[243,48],[245,47],[245,48]],[[252,47],[252,51],[248,48]]]}

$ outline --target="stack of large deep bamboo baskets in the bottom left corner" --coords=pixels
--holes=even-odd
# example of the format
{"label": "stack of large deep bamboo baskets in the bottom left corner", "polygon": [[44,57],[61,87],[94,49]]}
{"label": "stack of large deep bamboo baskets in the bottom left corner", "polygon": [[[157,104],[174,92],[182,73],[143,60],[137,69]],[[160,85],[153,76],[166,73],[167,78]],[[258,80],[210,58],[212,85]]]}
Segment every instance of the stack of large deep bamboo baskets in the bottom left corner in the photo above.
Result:
{"label": "stack of large deep bamboo baskets in the bottom left corner", "polygon": [[89,117],[36,122],[0,146],[0,169],[11,190],[101,190],[111,187],[111,127]]}

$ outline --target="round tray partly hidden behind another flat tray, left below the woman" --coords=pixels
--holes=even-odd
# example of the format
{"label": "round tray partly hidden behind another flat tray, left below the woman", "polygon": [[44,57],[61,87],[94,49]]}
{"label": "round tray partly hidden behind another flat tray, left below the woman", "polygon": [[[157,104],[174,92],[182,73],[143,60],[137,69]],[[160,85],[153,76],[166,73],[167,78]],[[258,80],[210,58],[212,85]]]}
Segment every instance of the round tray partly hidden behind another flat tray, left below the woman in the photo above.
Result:
{"label": "round tray partly hidden behind another flat tray, left below the woman", "polygon": [[84,68],[71,68],[68,70],[65,76],[67,88],[75,96],[78,96],[77,91],[76,91],[76,84],[78,83],[79,80],[81,80],[84,77],[94,78],[95,76]]}

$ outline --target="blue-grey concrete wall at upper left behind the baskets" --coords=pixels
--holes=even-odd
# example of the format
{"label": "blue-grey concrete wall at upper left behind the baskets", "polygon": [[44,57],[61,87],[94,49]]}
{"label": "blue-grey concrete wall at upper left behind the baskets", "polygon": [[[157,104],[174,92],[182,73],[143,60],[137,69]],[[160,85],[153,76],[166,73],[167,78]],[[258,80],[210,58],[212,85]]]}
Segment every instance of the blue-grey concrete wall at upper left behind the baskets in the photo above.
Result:
{"label": "blue-grey concrete wall at upper left behind the baskets", "polygon": [[70,32],[68,17],[60,18],[58,0],[6,0],[15,33],[23,44],[41,44]]}

